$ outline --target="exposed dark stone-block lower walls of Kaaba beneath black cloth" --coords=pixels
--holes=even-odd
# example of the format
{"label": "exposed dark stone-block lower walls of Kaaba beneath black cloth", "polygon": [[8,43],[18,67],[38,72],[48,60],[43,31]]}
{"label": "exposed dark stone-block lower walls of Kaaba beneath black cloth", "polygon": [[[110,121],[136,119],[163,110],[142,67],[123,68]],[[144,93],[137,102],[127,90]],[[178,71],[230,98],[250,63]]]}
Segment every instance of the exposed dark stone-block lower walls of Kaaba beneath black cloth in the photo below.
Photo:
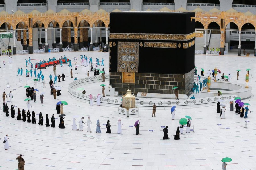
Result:
{"label": "exposed dark stone-block lower walls of Kaaba beneath black cloth", "polygon": [[174,87],[179,88],[179,94],[188,95],[193,80],[194,70],[186,74],[135,73],[135,83],[123,83],[121,72],[110,72],[110,84],[119,95],[126,94],[128,87],[135,95],[138,92],[174,94]]}

